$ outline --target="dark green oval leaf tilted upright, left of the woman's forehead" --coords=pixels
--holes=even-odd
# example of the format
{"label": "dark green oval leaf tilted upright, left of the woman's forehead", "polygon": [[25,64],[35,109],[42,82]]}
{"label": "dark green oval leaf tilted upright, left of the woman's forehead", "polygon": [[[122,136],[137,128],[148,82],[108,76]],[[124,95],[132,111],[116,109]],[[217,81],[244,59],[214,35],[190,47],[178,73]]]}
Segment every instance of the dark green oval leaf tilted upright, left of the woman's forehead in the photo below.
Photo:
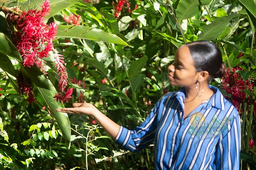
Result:
{"label": "dark green oval leaf tilted upright, left of the woman's forehead", "polygon": [[142,58],[137,59],[133,63],[131,63],[128,69],[130,80],[133,80],[138,76],[139,73],[141,73],[141,69],[144,68],[146,62],[147,62],[147,56],[143,56]]}

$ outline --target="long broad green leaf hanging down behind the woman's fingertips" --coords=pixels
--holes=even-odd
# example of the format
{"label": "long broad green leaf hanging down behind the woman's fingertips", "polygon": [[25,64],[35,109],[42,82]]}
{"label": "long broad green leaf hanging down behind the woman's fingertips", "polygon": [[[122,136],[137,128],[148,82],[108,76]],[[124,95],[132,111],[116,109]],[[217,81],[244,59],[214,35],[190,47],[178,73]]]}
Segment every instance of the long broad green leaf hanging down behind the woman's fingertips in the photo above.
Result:
{"label": "long broad green leaf hanging down behind the woman's fingertips", "polygon": [[[56,119],[58,126],[63,134],[63,138],[65,139],[68,146],[70,146],[70,121],[68,119],[68,115],[66,113],[60,113],[55,111],[55,109],[63,108],[63,103],[57,102],[54,100],[53,96],[57,94],[56,89],[52,85],[49,79],[38,69],[37,66],[33,66],[31,68],[25,67],[27,73],[29,73],[29,77],[32,82],[34,82],[37,86],[37,90],[41,93],[44,102],[50,108],[50,111],[53,114],[53,117]],[[39,137],[39,136],[38,136]],[[40,137],[39,137],[40,139]]]}

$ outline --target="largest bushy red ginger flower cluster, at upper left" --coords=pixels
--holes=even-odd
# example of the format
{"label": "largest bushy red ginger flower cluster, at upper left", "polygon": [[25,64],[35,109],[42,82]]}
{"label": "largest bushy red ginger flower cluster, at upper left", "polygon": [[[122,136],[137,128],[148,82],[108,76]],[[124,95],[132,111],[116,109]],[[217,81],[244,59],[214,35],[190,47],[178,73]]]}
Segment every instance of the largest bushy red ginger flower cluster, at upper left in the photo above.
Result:
{"label": "largest bushy red ginger flower cluster, at upper left", "polygon": [[13,40],[23,58],[23,66],[31,67],[34,63],[40,66],[41,59],[47,57],[53,48],[57,26],[55,23],[45,24],[43,18],[49,14],[49,0],[45,0],[41,7],[40,11],[23,11],[19,17],[12,13],[7,16],[18,30],[13,33]]}

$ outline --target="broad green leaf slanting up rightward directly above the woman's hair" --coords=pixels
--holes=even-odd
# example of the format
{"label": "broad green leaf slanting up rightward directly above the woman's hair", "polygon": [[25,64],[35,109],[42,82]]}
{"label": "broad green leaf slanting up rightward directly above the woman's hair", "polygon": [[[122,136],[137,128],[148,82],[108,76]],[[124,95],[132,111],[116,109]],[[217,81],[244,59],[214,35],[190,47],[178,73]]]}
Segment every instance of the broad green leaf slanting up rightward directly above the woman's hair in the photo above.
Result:
{"label": "broad green leaf slanting up rightward directly above the woman's hair", "polygon": [[230,20],[238,16],[239,14],[224,16],[209,25],[201,27],[203,31],[198,35],[198,40],[215,40],[228,27]]}

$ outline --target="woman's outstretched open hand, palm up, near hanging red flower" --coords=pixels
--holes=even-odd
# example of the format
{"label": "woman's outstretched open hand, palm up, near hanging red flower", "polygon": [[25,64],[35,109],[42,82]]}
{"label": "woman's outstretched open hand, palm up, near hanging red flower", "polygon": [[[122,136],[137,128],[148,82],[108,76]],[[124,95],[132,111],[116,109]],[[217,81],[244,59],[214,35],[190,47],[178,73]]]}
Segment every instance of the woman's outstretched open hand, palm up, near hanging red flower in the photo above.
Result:
{"label": "woman's outstretched open hand, palm up, near hanging red flower", "polygon": [[73,103],[73,107],[56,109],[57,112],[65,112],[71,114],[83,114],[83,115],[92,115],[99,110],[94,107],[91,103]]}

